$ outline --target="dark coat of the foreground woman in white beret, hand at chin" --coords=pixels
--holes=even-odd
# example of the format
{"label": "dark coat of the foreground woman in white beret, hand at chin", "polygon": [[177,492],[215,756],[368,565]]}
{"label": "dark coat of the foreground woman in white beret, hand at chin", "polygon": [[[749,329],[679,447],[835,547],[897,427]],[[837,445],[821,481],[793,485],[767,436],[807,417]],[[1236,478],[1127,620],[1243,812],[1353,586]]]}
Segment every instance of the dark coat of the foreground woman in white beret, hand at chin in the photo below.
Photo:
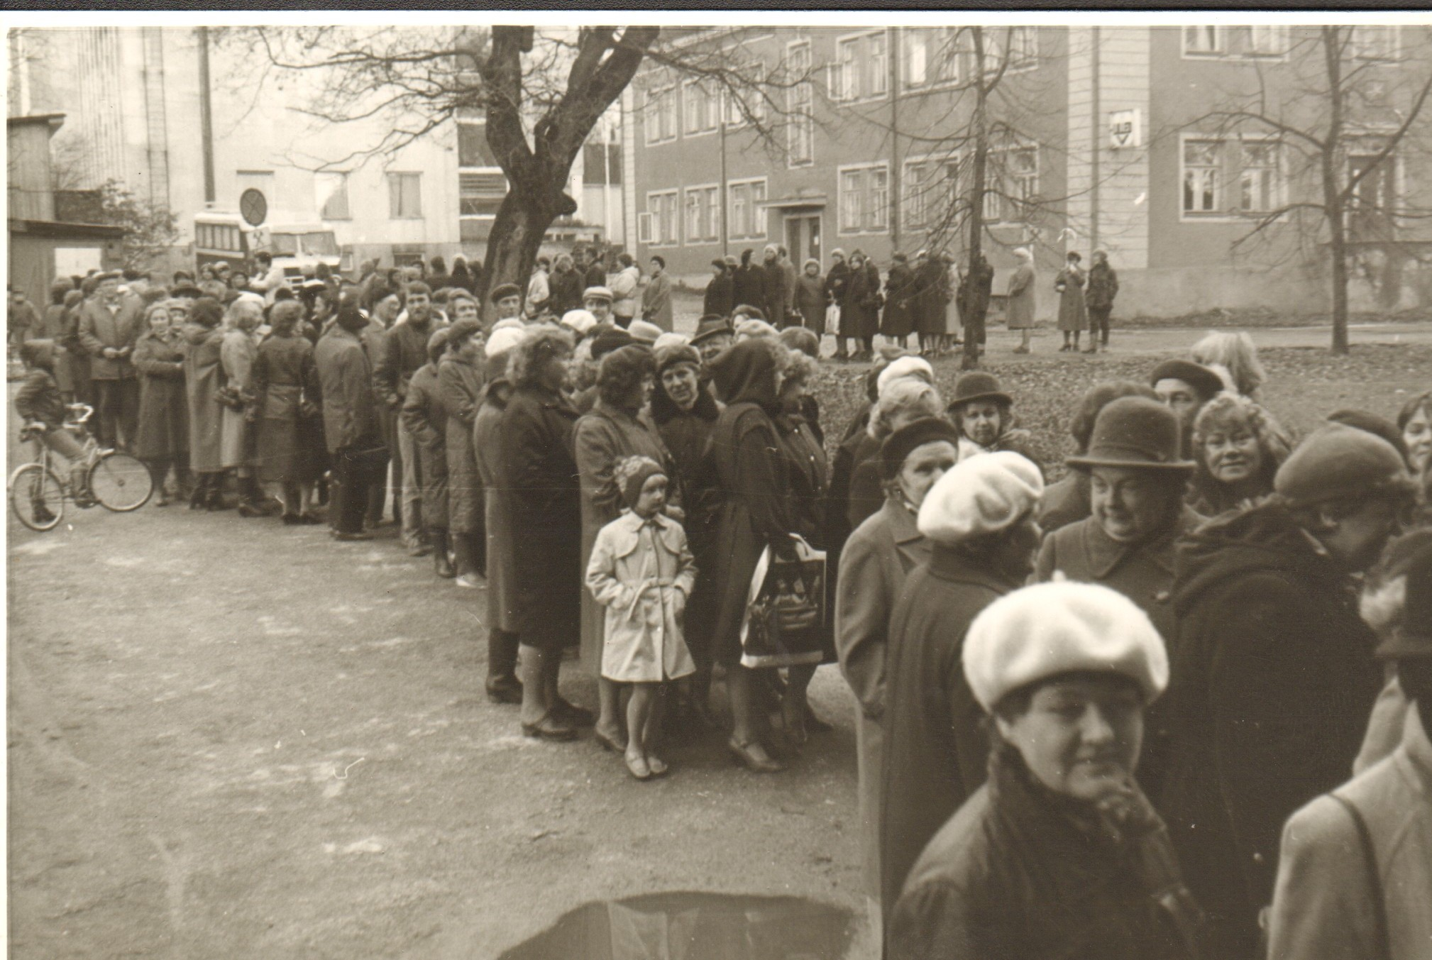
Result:
{"label": "dark coat of the foreground woman in white beret, hand at chin", "polygon": [[889,960],[1197,960],[1199,907],[1141,797],[1114,821],[1001,748],[911,870]]}

